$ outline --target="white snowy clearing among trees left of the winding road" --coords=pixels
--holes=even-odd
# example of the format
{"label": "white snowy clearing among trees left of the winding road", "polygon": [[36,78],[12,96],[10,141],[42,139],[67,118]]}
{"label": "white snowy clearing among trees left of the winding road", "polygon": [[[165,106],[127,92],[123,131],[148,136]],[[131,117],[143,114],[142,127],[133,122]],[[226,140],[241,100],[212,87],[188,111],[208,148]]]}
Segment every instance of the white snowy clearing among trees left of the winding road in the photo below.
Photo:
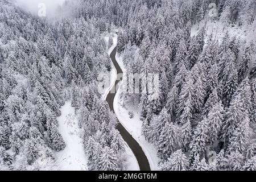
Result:
{"label": "white snowy clearing among trees left of the winding road", "polygon": [[57,120],[60,134],[66,143],[64,150],[55,152],[58,169],[61,171],[87,171],[87,158],[80,137],[81,130],[78,126],[75,108],[71,107],[70,101],[61,107],[61,116]]}

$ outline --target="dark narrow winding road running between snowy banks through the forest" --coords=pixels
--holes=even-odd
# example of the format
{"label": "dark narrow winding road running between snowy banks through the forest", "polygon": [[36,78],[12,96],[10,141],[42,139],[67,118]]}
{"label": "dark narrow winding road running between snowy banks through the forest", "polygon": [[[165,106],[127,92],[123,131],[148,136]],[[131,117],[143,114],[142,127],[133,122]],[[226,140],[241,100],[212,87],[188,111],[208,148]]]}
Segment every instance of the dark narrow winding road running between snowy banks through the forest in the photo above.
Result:
{"label": "dark narrow winding road running between snowy banks through the forest", "polygon": [[[115,47],[112,53],[110,53],[110,59],[112,60],[115,69],[117,70],[117,74],[119,74],[123,72],[122,72],[122,69],[119,67],[119,64],[117,63],[117,60],[115,60],[116,53],[117,53],[117,47]],[[115,84],[112,89],[115,89],[115,86],[118,84],[118,82],[119,82],[118,80],[115,80]],[[117,90],[115,90],[114,93],[111,93],[112,89],[110,89],[108,96],[106,97],[106,101],[109,104],[110,110],[114,112],[113,102],[114,102],[114,97]],[[119,133],[122,135],[123,140],[125,140],[128,146],[131,148],[131,151],[133,151],[133,154],[135,155],[138,161],[139,168],[141,169],[141,171],[150,171],[150,164],[148,163],[147,157],[144,154],[141,146],[139,146],[137,141],[133,137],[131,137],[129,132],[126,131],[125,127],[123,127],[119,121],[118,121],[117,129]]]}

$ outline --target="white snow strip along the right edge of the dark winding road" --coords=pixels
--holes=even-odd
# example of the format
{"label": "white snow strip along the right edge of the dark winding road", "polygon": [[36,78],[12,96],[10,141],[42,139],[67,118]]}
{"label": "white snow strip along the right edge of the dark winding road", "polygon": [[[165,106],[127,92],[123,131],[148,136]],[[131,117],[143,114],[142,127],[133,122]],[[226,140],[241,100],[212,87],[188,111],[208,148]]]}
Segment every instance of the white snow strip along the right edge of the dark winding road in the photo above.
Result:
{"label": "white snow strip along the right edge of the dark winding road", "polygon": [[[115,55],[115,59],[119,64],[122,71],[125,73],[125,67],[123,65],[122,57],[118,54]],[[133,136],[133,138],[142,147],[144,154],[147,156],[150,163],[151,170],[158,170],[158,155],[154,144],[148,143],[147,140],[141,134],[142,121],[139,117],[138,108],[125,109],[122,106],[121,90],[119,89],[114,98],[114,111],[119,122],[125,127],[125,129]],[[130,119],[128,112],[133,111],[134,117]]]}

